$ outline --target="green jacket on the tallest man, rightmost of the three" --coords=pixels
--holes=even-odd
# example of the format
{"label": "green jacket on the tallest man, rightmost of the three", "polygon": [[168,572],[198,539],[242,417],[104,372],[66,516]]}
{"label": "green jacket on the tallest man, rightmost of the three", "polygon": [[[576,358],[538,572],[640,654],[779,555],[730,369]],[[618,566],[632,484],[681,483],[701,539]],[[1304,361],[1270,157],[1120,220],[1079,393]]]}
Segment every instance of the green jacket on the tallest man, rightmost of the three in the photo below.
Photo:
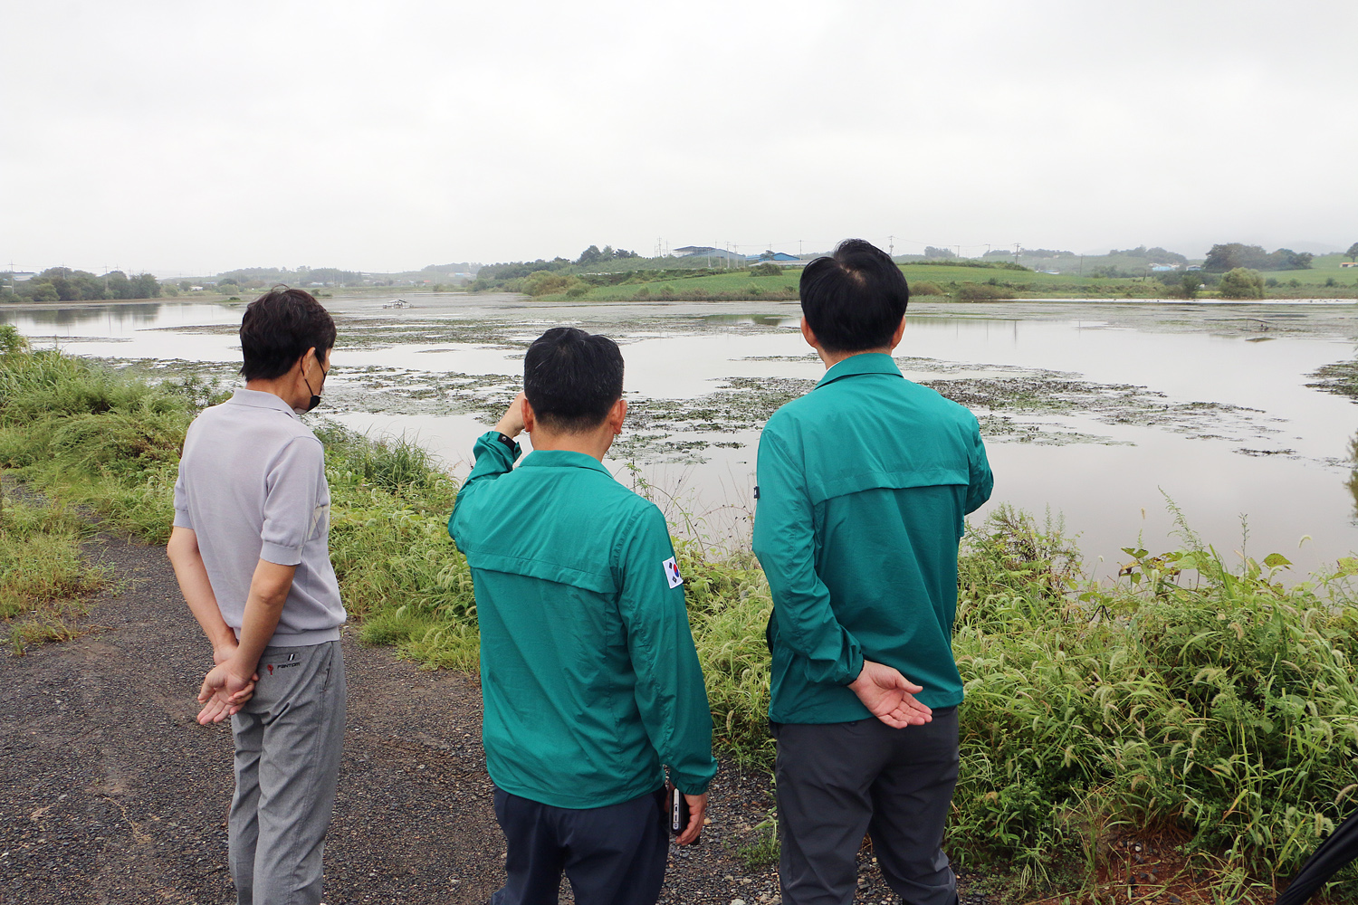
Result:
{"label": "green jacket on the tallest man, rightmost of the three", "polygon": [[891,355],[851,355],[769,419],[758,482],[769,718],[870,716],[847,688],[864,658],[923,685],[929,707],[960,703],[957,541],[993,486],[976,418],[902,377]]}

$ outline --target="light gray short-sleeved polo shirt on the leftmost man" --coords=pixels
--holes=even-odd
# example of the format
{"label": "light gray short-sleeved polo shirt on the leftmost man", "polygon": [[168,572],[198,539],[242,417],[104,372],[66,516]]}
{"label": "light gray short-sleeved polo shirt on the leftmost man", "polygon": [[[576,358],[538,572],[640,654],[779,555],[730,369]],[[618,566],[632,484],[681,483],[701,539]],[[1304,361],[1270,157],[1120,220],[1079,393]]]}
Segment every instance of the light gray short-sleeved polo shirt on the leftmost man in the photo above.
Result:
{"label": "light gray short-sleeved polo shirt on the leftmost man", "polygon": [[269,644],[340,638],[346,613],[327,545],[325,449],[282,399],[238,389],[194,418],[174,486],[174,524],[198,536],[217,608],[238,638],[261,559],[297,567]]}

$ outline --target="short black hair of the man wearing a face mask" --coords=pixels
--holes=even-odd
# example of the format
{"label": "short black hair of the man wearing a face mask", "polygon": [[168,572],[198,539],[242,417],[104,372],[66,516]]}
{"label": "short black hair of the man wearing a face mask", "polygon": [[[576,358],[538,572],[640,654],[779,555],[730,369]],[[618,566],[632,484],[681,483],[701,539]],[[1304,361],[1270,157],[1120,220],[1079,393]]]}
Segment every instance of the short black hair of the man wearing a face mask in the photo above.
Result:
{"label": "short black hair of the man wearing a face mask", "polygon": [[240,373],[246,380],[273,380],[288,373],[308,349],[325,360],[334,345],[334,317],[315,296],[274,286],[246,305],[240,319]]}

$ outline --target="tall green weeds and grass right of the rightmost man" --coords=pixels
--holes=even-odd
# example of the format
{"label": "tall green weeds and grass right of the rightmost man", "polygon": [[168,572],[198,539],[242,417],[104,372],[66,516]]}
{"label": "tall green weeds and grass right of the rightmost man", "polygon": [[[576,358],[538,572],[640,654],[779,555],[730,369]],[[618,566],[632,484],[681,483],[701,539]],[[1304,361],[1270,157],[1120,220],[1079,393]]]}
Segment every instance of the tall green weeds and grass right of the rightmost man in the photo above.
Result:
{"label": "tall green weeds and grass right of the rightmost man", "polygon": [[1092,875],[1116,829],[1165,828],[1217,870],[1296,871],[1358,791],[1358,560],[1290,588],[1282,556],[1128,548],[1127,583],[1001,509],[963,558],[959,860]]}

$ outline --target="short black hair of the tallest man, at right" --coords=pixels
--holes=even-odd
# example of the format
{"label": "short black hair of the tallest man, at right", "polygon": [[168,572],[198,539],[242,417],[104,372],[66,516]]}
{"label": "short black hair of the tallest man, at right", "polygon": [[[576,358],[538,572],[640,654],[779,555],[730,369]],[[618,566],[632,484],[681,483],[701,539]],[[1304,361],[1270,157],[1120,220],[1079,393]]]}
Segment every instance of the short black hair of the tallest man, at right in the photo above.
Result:
{"label": "short black hair of the tallest man, at right", "polygon": [[891,345],[906,316],[910,286],[891,256],[870,242],[845,239],[801,271],[801,313],[831,353]]}

